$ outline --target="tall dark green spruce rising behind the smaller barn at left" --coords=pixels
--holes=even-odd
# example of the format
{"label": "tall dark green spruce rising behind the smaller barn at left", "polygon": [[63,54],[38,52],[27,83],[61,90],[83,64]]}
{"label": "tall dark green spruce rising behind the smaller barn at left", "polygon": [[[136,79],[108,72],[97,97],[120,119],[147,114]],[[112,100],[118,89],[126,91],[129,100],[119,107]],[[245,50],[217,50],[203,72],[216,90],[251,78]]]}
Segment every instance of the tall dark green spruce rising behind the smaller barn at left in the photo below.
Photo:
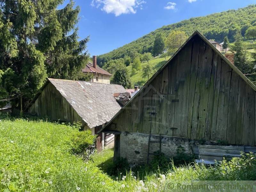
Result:
{"label": "tall dark green spruce rising behind the smaller barn at left", "polygon": [[[0,97],[23,92],[28,102],[46,77],[74,79],[86,65],[86,37],[78,41],[79,7],[62,0],[0,2]],[[12,105],[17,106],[19,100]]]}

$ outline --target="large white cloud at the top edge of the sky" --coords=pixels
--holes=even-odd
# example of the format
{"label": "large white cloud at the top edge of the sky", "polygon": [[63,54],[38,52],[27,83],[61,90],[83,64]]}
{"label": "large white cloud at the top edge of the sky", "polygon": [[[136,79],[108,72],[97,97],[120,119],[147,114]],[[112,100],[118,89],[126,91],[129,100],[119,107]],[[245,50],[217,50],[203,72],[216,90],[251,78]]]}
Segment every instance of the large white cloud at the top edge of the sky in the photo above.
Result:
{"label": "large white cloud at the top edge of the sky", "polygon": [[114,13],[116,16],[127,13],[136,13],[136,8],[142,9],[143,0],[92,0],[91,5],[101,7],[106,13]]}

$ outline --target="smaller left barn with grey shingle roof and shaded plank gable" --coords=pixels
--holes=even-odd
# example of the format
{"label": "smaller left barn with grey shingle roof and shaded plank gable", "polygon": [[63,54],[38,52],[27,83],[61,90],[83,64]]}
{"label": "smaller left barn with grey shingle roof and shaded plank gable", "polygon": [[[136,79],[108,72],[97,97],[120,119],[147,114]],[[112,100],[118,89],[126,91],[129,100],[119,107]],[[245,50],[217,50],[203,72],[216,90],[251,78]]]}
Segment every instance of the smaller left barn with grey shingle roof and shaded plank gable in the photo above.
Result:
{"label": "smaller left barn with grey shingle roof and shaded plank gable", "polygon": [[[80,122],[94,135],[121,109],[114,93],[125,92],[116,84],[48,78],[25,111],[54,121]],[[113,135],[99,133],[98,151],[113,140]]]}

